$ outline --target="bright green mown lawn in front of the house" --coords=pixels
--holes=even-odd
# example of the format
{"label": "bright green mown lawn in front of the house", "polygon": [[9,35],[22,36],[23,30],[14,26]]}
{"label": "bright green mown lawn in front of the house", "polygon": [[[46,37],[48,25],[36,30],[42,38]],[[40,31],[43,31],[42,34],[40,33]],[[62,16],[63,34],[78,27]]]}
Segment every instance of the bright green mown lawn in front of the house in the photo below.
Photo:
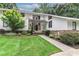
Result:
{"label": "bright green mown lawn in front of the house", "polygon": [[39,36],[0,35],[0,56],[47,56],[59,51]]}

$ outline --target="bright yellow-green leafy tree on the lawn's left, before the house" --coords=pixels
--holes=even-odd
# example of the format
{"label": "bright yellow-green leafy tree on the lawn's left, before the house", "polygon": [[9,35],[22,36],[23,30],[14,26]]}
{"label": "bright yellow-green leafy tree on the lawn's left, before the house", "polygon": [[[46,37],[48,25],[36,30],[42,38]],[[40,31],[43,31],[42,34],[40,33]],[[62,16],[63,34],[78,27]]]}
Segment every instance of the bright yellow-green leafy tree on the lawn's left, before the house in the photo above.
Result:
{"label": "bright yellow-green leafy tree on the lawn's left, before the house", "polygon": [[8,10],[3,13],[2,20],[11,28],[13,32],[24,27],[24,20],[16,10]]}

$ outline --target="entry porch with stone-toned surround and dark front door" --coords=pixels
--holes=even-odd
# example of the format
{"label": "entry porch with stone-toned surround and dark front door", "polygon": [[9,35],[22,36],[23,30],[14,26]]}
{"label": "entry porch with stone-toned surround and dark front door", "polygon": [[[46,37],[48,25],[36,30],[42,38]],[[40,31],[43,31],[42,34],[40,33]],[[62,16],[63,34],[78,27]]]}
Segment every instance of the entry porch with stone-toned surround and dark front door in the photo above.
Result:
{"label": "entry porch with stone-toned surround and dark front door", "polygon": [[47,22],[45,20],[29,20],[29,30],[33,29],[34,33],[42,33],[46,30]]}

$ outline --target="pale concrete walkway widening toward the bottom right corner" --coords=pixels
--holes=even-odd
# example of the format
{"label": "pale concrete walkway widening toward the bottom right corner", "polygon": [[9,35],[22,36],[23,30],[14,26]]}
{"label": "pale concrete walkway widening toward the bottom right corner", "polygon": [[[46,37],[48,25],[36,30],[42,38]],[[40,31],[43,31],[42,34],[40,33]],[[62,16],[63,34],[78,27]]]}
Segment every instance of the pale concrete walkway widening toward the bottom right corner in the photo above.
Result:
{"label": "pale concrete walkway widening toward the bottom right corner", "polygon": [[56,47],[60,48],[62,52],[53,54],[51,56],[79,56],[79,49],[74,49],[70,46],[67,46],[61,42],[53,40],[45,35],[39,35],[40,37],[44,38],[45,40],[49,41],[51,44],[54,44]]}

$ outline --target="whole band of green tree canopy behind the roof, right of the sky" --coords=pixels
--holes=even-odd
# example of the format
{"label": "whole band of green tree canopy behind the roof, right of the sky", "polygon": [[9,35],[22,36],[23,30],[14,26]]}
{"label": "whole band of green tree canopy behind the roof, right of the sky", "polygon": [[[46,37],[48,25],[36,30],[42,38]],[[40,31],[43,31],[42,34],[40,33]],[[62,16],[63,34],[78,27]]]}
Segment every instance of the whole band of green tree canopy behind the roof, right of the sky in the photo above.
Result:
{"label": "whole band of green tree canopy behind the roof, right of the sky", "polygon": [[66,17],[79,18],[79,4],[78,3],[65,3],[54,4],[50,6],[49,3],[40,4],[39,8],[36,8],[34,12],[42,12],[48,14],[54,14]]}

